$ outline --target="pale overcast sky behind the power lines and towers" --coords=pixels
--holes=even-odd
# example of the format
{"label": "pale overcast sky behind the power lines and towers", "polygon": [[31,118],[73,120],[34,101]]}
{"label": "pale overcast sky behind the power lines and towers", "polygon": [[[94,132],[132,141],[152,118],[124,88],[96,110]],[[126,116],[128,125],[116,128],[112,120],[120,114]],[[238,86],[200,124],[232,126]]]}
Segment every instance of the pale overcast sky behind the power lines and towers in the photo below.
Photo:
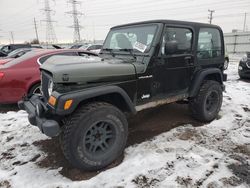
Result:
{"label": "pale overcast sky behind the power lines and towers", "polygon": [[[250,30],[250,0],[79,0],[77,6],[84,15],[79,18],[83,26],[82,39],[104,39],[109,28],[134,21],[175,19],[208,22],[208,9],[215,10],[213,23],[224,32],[243,29],[244,13]],[[49,0],[54,10],[52,19],[59,42],[72,42],[73,24],[68,0]],[[15,42],[35,38],[33,19],[36,18],[40,41],[46,39],[44,0],[0,0],[0,44],[9,43],[10,31]]]}

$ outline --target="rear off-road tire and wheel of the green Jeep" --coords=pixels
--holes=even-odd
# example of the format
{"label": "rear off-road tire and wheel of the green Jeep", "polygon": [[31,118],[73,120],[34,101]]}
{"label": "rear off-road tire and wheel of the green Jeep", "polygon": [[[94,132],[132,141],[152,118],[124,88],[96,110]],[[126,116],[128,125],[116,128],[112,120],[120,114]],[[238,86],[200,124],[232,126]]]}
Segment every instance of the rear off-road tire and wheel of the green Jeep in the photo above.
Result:
{"label": "rear off-road tire and wheel of the green Jeep", "polygon": [[214,120],[220,111],[222,98],[220,83],[213,80],[204,81],[197,96],[189,100],[192,116],[202,122]]}

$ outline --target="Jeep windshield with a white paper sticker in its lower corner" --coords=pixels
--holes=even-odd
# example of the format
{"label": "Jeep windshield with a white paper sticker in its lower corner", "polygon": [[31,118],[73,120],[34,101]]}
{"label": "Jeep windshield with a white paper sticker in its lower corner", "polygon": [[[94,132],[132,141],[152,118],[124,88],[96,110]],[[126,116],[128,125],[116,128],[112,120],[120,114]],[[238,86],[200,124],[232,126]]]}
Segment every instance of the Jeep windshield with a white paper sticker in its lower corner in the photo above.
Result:
{"label": "Jeep windshield with a white paper sticker in its lower corner", "polygon": [[156,25],[112,29],[105,40],[103,49],[117,51],[130,49],[139,53],[147,52],[152,45],[156,29]]}

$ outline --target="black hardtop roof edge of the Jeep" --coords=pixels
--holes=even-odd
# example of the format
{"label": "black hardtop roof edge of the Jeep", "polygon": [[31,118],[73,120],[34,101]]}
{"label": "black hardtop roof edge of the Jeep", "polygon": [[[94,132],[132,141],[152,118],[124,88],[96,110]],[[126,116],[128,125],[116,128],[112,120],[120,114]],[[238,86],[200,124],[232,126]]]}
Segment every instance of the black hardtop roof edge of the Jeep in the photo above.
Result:
{"label": "black hardtop roof edge of the Jeep", "polygon": [[219,26],[213,25],[213,24],[199,23],[199,22],[188,22],[188,21],[178,21],[178,20],[148,20],[148,21],[142,21],[142,22],[134,22],[134,23],[128,23],[128,24],[123,24],[123,25],[117,25],[117,26],[112,27],[111,29],[119,28],[119,27],[139,25],[139,24],[153,24],[153,23],[186,25],[186,26],[192,26],[192,27],[214,27],[214,28],[219,28],[220,29]]}

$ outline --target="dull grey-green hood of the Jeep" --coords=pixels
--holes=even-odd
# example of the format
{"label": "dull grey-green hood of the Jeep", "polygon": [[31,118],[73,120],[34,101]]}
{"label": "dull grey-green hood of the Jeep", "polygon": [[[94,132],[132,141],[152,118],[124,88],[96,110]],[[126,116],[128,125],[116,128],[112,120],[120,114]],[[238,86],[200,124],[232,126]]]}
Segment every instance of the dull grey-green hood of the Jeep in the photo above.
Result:
{"label": "dull grey-green hood of the Jeep", "polygon": [[41,70],[51,72],[56,83],[87,83],[136,79],[135,60],[98,56],[53,56]]}

